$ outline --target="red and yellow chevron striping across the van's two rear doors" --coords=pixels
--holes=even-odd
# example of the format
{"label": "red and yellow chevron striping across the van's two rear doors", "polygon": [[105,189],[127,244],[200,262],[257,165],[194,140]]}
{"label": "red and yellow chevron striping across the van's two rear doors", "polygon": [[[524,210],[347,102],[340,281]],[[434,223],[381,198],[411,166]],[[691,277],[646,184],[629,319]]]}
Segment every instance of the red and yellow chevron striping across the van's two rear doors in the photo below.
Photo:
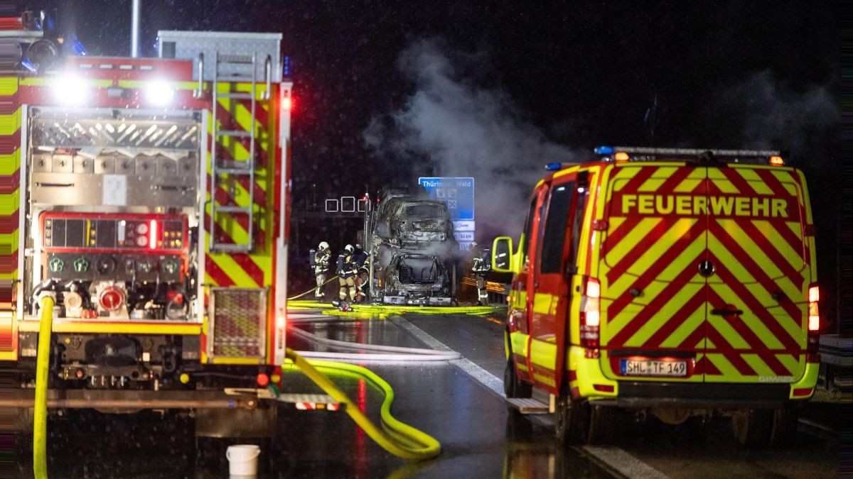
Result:
{"label": "red and yellow chevron striping across the van's two rear doors", "polygon": [[[791,169],[742,165],[706,170],[705,181],[705,168],[613,168],[602,245],[606,271],[600,275],[607,291],[602,342],[608,349],[693,350],[695,372],[716,380],[798,377],[804,367],[804,288],[813,275],[806,266],[813,242],[804,241],[802,232],[802,224],[810,224],[802,177]],[[653,193],[645,207],[657,214],[620,210],[619,195],[640,193]],[[668,214],[676,197],[669,204],[661,198],[676,193],[709,199],[684,201],[682,211],[692,215]],[[772,211],[768,198],[774,199]],[[782,201],[778,209],[776,199]],[[707,281],[696,268],[706,258],[718,265]],[[638,301],[630,290],[649,299]],[[769,307],[780,294],[791,300]],[[726,304],[745,314],[705,320],[706,309]]]}

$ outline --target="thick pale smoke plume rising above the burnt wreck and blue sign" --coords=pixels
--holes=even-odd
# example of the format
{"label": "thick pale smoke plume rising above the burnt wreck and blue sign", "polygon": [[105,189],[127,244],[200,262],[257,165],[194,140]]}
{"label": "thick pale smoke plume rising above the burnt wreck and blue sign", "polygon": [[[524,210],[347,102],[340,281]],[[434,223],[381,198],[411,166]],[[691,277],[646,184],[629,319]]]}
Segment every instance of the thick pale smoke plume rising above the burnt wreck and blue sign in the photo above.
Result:
{"label": "thick pale smoke plume rising above the burnt wreck and blue sign", "polygon": [[463,78],[463,66],[487,63],[485,55],[450,50],[436,38],[410,44],[397,66],[415,93],[397,111],[373,118],[363,134],[391,169],[410,164],[412,176],[473,176],[480,241],[519,234],[543,166],[576,158],[526,123],[500,89]]}

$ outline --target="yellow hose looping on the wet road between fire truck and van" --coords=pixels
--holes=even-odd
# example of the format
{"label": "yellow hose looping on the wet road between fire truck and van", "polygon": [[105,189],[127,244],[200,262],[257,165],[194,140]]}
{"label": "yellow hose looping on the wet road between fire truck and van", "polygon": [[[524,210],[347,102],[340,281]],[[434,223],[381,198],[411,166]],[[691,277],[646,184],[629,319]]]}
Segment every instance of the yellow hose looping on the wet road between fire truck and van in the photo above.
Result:
{"label": "yellow hose looping on the wet road between fire truck and van", "polygon": [[[334,361],[308,361],[302,356],[296,354],[293,349],[287,348],[285,351],[287,359],[293,361],[292,365],[285,364],[284,366],[299,367],[305,376],[308,376],[311,381],[320,388],[326,391],[326,394],[332,396],[335,401],[344,405],[346,413],[361,427],[364,432],[373,439],[376,444],[403,459],[432,459],[441,453],[441,444],[427,433],[417,430],[409,424],[403,424],[394,418],[391,414],[391,405],[394,401],[394,390],[385,382],[384,379],[377,376],[374,372],[351,364],[345,364]],[[382,418],[382,429],[373,424],[364,413],[358,409],[343,391],[339,390],[334,383],[317,371],[316,368],[334,369],[344,372],[354,372],[363,378],[367,378],[379,388],[385,391],[385,401],[382,401],[380,408],[380,417]]]}

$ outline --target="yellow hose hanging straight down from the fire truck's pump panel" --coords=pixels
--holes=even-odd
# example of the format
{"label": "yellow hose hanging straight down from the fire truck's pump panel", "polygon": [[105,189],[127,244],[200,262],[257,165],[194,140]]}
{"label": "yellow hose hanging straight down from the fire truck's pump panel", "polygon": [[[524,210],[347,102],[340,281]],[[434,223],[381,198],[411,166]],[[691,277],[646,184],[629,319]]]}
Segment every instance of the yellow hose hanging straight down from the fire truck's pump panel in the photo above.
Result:
{"label": "yellow hose hanging straight down from the fire truck's pump panel", "polygon": [[41,298],[38,323],[38,356],[36,359],[36,401],[32,413],[32,472],[36,479],[48,476],[48,366],[50,332],[53,326],[53,297]]}

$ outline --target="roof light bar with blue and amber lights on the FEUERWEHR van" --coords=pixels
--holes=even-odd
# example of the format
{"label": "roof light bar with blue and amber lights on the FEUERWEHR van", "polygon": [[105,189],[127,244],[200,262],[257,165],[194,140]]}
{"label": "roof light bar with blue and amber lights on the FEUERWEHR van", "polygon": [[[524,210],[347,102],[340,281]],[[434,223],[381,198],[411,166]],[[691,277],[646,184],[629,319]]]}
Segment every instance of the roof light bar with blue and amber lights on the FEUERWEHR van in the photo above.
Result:
{"label": "roof light bar with blue and amber lights on the FEUERWEHR van", "polygon": [[[784,162],[777,150],[714,150],[699,148],[653,148],[653,147],[610,147],[595,148],[595,154],[601,155],[605,161],[613,161],[620,153],[626,153],[631,161],[654,161],[680,159],[705,159],[710,154],[714,159],[732,163],[760,163],[780,166]],[[661,158],[659,158],[661,157]]]}

